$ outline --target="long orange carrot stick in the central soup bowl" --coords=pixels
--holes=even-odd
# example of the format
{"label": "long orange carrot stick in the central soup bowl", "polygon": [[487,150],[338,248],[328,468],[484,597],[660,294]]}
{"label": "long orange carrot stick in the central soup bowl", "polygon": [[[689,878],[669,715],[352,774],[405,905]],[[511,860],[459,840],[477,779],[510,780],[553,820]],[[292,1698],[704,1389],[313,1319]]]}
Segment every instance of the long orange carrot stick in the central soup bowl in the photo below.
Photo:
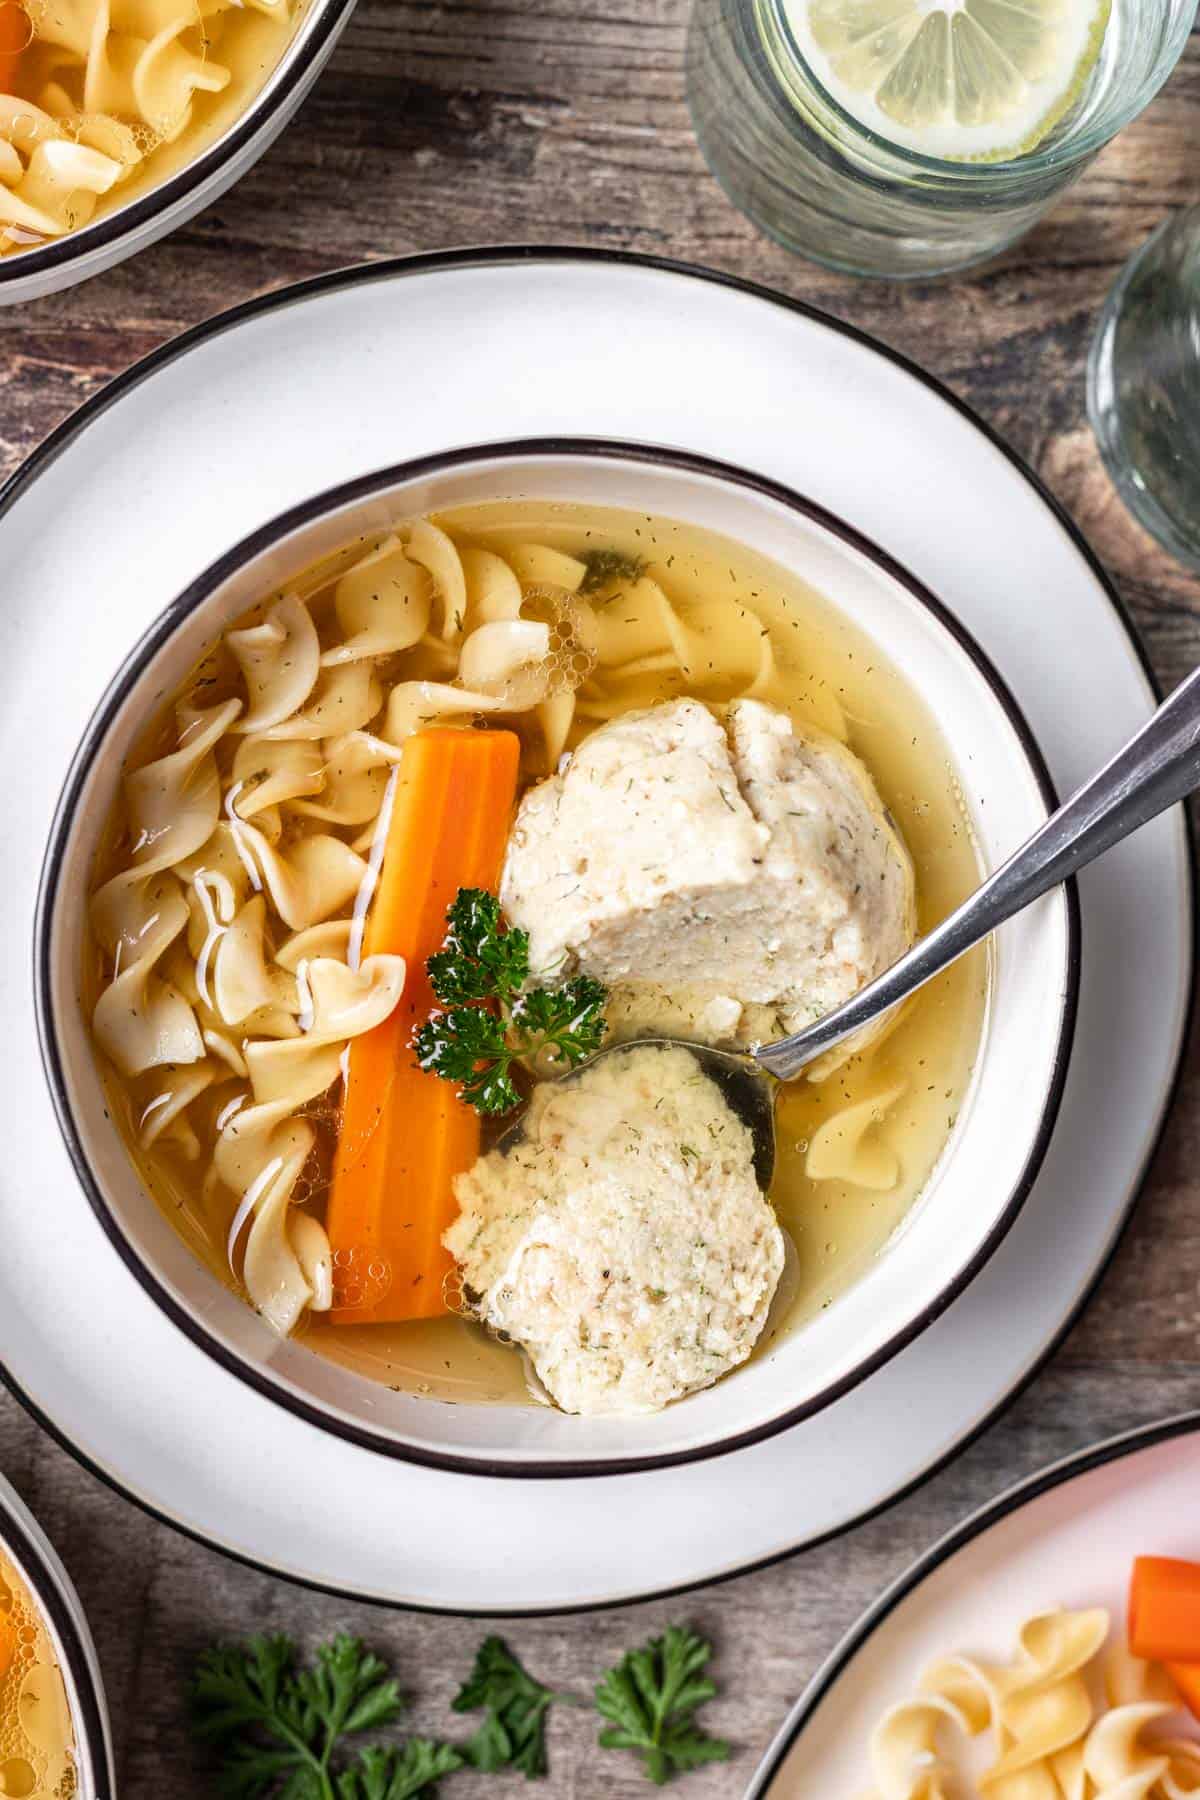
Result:
{"label": "long orange carrot stick in the central soup bowl", "polygon": [[367,954],[408,963],[396,1012],[351,1040],[326,1228],[338,1325],[446,1310],[443,1231],[452,1179],[479,1156],[479,1114],[419,1069],[412,1033],[434,1003],[425,959],[446,936],[459,887],[495,891],[516,799],[511,731],[421,731],[405,743]]}

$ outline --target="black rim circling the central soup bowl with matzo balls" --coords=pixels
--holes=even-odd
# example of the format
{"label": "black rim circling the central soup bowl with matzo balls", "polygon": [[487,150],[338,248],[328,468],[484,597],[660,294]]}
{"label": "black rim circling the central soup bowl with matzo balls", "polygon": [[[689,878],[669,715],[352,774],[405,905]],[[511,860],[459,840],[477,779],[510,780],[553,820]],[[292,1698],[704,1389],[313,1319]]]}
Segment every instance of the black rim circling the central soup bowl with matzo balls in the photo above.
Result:
{"label": "black rim circling the central soup bowl with matzo balls", "polygon": [[1063,1085],[1067,1080],[1067,1069],[1070,1062],[1070,1044],[1074,1037],[1074,1022],[1079,999],[1079,904],[1074,884],[1065,887],[1067,902],[1067,970],[1065,970],[1065,990],[1061,997],[1061,1010],[1056,1033],[1056,1051],[1054,1064],[1051,1069],[1051,1080],[1047,1085],[1045,1100],[1038,1118],[1038,1129],[1033,1136],[1029,1154],[1025,1157],[1024,1168],[1018,1181],[1009,1192],[1007,1201],[1000,1217],[995,1220],[986,1238],[977,1246],[973,1255],[968,1258],[964,1267],[941,1289],[941,1292],[930,1300],[921,1310],[898,1332],[894,1332],[885,1345],[874,1350],[860,1364],[849,1370],[837,1381],[828,1382],[811,1399],[799,1406],[792,1406],[750,1426],[745,1431],[734,1431],[720,1436],[712,1442],[691,1445],[685,1449],[646,1453],[633,1456],[613,1456],[613,1458],[563,1458],[563,1460],[538,1460],[536,1456],[529,1460],[504,1460],[498,1456],[489,1456],[488,1453],[470,1454],[461,1451],[435,1451],[421,1444],[410,1444],[403,1438],[383,1435],[367,1429],[365,1426],[349,1420],[335,1411],[326,1411],[324,1408],[302,1399],[291,1388],[275,1381],[266,1370],[252,1364],[248,1359],[234,1354],[219,1337],[216,1337],[198,1318],[194,1318],[180,1301],[169,1292],[166,1283],[142,1262],[139,1253],[133,1249],[126,1238],[117,1217],[113,1215],[106,1195],[92,1174],[88,1156],[85,1152],[81,1136],[76,1129],[76,1120],[72,1112],[70,1096],[67,1091],[67,1082],[63,1075],[63,1060],[58,1046],[58,1030],[54,1017],[52,1001],[52,968],[50,968],[50,940],[54,927],[54,911],[59,887],[59,873],[63,853],[67,848],[67,839],[76,817],[76,806],[81,790],[92,772],[97,754],[101,752],[108,729],[117,716],[119,709],[124,706],[131,688],[140,680],[151,657],[171,639],[178,626],[191,617],[191,614],[201,607],[232,574],[236,574],[246,562],[268,551],[273,544],[291,536],[291,533],[313,526],[318,520],[344,511],[347,506],[354,506],[362,500],[369,500],[376,495],[383,495],[387,490],[399,486],[401,482],[421,481],[425,477],[441,475],[462,468],[473,463],[488,463],[495,468],[497,482],[504,482],[506,470],[518,466],[520,463],[531,461],[534,457],[570,457],[583,463],[642,463],[651,468],[671,468],[684,473],[705,477],[711,481],[720,481],[723,486],[739,488],[759,495],[763,499],[774,500],[790,513],[797,515],[808,524],[815,524],[819,529],[826,531],[829,536],[837,538],[849,549],[856,551],[867,558],[876,569],[883,571],[894,583],[905,589],[943,628],[943,632],[955,643],[959,652],[966,655],[979,675],[988,682],[997,704],[1006,715],[1007,725],[1013,731],[1025,761],[1038,783],[1038,790],[1047,810],[1056,805],[1054,787],[1036,745],[1025,718],[1016,706],[1016,700],[1007,689],[999,671],[993,668],[990,659],[979,648],[970,632],[963,623],[946,610],[946,607],[912,576],[903,565],[900,565],[892,556],[882,551],[871,538],[864,536],[853,526],[847,526],[842,518],[829,513],[826,508],[817,506],[813,500],[795,493],[792,488],[781,482],[770,481],[763,475],[754,475],[747,470],[736,468],[727,463],[720,463],[712,457],[693,455],[684,450],[671,450],[658,445],[640,445],[624,443],[613,439],[599,437],[525,437],[511,439],[502,443],[471,445],[459,450],[443,450],[434,455],[414,457],[410,461],[394,464],[390,468],[374,470],[369,475],[360,475],[354,481],[342,482],[335,488],[327,488],[309,500],[302,500],[299,506],[277,515],[268,524],[252,531],[232,549],[225,551],[216,562],[212,562],[203,574],[184,589],[175,601],[153,621],[153,625],[142,634],[139,643],[133,646],[130,655],[122,661],[115,677],[108,684],[95,713],[92,715],[79,749],[72,760],[59,803],[54,814],[54,823],[50,828],[50,839],[45,853],[45,862],[41,869],[41,884],[38,893],[36,923],[34,923],[34,961],[36,961],[36,1012],[38,1012],[38,1037],[41,1044],[41,1058],[45,1066],[47,1082],[50,1087],[50,1096],[54,1100],[54,1111],[58,1114],[59,1129],[63,1132],[67,1150],[76,1168],[76,1175],[83,1186],[83,1192],[92,1204],[95,1217],[99,1219],[104,1233],[117,1249],[121,1260],[126,1264],[130,1273],[140,1282],[151,1300],[158,1305],[162,1312],[194,1343],[198,1345],[212,1361],[216,1361],[228,1373],[236,1375],[239,1381],[254,1388],[257,1393],[282,1406],[286,1411],[308,1424],[317,1426],[322,1431],[331,1431],[351,1444],[358,1444],[363,1449],[378,1451],[385,1456],[394,1456],[403,1462],[423,1463],[434,1469],[444,1469],[457,1474],[480,1474],[480,1476],[506,1476],[513,1480],[567,1480],[581,1476],[608,1476],[608,1474],[635,1474],[649,1469],[667,1469],[680,1463],[702,1462],[709,1456],[723,1456],[736,1449],[745,1449],[750,1444],[759,1444],[765,1438],[774,1436],[779,1431],[786,1431],[790,1426],[801,1424],[804,1418],[811,1418],[815,1413],[822,1411],[826,1406],[838,1400],[842,1395],[849,1393],[862,1381],[873,1375],[878,1368],[889,1363],[900,1350],[910,1345],[923,1330],[927,1330],[946,1307],[970,1285],[970,1282],[979,1274],[984,1264],[991,1258],[995,1249],[1000,1246],[1007,1231],[1011,1229],[1020,1208],[1024,1206],[1029,1190],[1036,1179],[1038,1168],[1051,1141],[1054,1121],[1058,1118],[1058,1107],[1063,1094]]}

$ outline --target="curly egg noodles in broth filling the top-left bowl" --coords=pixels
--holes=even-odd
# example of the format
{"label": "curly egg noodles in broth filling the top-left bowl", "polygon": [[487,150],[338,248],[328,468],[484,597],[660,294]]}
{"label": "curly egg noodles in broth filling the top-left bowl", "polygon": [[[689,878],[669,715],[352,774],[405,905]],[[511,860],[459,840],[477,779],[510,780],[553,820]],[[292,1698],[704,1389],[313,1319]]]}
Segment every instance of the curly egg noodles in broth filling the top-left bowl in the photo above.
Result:
{"label": "curly egg noodles in broth filling the top-left bowl", "polygon": [[0,27],[27,40],[14,76],[0,63],[0,254],[86,225],[194,155],[261,86],[297,16],[299,0],[22,0],[20,14],[0,0]]}

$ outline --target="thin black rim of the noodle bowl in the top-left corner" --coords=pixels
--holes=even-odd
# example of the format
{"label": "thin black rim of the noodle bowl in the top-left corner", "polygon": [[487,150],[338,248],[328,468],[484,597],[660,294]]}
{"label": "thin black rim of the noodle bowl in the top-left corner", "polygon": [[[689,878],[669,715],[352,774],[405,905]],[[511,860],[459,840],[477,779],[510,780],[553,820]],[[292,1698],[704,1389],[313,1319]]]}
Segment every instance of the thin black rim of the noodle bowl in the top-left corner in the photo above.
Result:
{"label": "thin black rim of the noodle bowl in the top-left corner", "polygon": [[[70,268],[74,261],[121,243],[122,238],[140,230],[149,220],[167,212],[178,202],[189,200],[196,189],[203,187],[205,182],[218,175],[228,162],[234,160],[234,157],[254,142],[259,131],[263,131],[277,117],[277,113],[288,106],[288,101],[295,95],[297,88],[304,88],[313,70],[320,68],[326,49],[342,31],[342,25],[349,20],[356,4],[358,0],[309,0],[309,5],[318,9],[318,18],[313,20],[304,43],[299,49],[295,43],[290,43],[284,49],[279,63],[266,77],[264,86],[254,95],[246,110],[234,119],[234,122],[214,144],[209,144],[209,148],[198,157],[185,162],[182,169],[175,171],[175,175],[167,175],[162,182],[155,182],[146,189],[146,193],[139,194],[135,200],[128,200],[124,205],[113,207],[112,212],[103,212],[101,218],[81,225],[77,230],[68,230],[61,238],[54,238],[50,243],[40,245],[34,250],[22,250],[18,256],[2,257],[0,297],[4,297],[5,286],[14,288],[34,275],[50,275],[59,268]],[[304,18],[299,20],[300,29],[302,25]],[[272,86],[275,81],[277,85]],[[266,92],[268,88],[270,94]],[[243,175],[245,173],[246,171],[243,169]],[[218,196],[214,194],[212,198]],[[178,225],[184,223],[185,220],[178,220],[171,230],[176,230]],[[139,248],[149,248],[149,245],[142,245]],[[101,274],[101,270],[88,270],[81,279],[86,279],[92,274]]]}

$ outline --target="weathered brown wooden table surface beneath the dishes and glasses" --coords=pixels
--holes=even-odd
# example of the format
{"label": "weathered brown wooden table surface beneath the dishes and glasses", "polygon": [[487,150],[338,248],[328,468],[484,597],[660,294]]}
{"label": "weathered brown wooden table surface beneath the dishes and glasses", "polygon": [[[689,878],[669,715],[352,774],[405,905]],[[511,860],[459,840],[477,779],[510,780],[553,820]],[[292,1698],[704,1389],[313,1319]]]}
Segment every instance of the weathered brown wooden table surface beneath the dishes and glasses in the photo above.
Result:
{"label": "weathered brown wooden table surface beneath the dishes and glasses", "polygon": [[[687,0],[360,0],[317,92],[212,211],[83,288],[0,313],[0,473],[164,338],[254,293],[362,257],[444,245],[587,243],[770,283],[923,362],[1049,482],[1114,572],[1159,677],[1198,661],[1196,583],[1130,522],[1085,418],[1083,365],[1121,261],[1196,198],[1200,49],[1058,211],[952,284],[862,284],[810,268],[732,211],[684,104]],[[2,569],[0,538],[0,569]],[[720,1649],[712,1728],[738,1750],[684,1795],[741,1795],[817,1660],[921,1548],[1011,1480],[1112,1431],[1200,1404],[1196,1055],[1135,1220],[1085,1318],[1011,1411],[918,1494],[838,1543],[685,1600],[518,1622],[545,1679],[585,1687],[626,1645],[689,1618]],[[311,1595],[146,1519],[0,1393],[0,1467],[65,1557],[112,1701],[122,1800],[210,1782],[184,1728],[196,1651],[219,1636],[351,1629],[396,1660],[416,1721],[444,1728],[482,1625]],[[457,1787],[446,1789],[457,1793]],[[466,1787],[462,1789],[466,1791]],[[489,1789],[491,1791],[491,1789]],[[516,1793],[500,1782],[497,1793]],[[646,1793],[596,1757],[585,1714],[552,1732],[552,1796]]]}

